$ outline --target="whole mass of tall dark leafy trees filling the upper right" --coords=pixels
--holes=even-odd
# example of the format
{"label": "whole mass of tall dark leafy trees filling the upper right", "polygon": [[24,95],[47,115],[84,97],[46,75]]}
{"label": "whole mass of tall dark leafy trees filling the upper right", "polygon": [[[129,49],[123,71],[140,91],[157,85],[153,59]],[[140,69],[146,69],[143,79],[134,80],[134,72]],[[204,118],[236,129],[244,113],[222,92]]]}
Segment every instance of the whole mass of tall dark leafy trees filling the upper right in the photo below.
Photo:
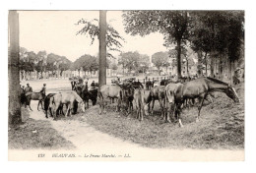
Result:
{"label": "whole mass of tall dark leafy trees filling the upper right", "polygon": [[124,11],[122,17],[127,33],[144,36],[158,31],[164,35],[170,56],[176,56],[179,78],[186,47],[198,53],[199,74],[204,63],[206,73],[210,65],[212,76],[216,69],[220,75],[229,69],[231,77],[234,63],[244,58],[243,11]]}

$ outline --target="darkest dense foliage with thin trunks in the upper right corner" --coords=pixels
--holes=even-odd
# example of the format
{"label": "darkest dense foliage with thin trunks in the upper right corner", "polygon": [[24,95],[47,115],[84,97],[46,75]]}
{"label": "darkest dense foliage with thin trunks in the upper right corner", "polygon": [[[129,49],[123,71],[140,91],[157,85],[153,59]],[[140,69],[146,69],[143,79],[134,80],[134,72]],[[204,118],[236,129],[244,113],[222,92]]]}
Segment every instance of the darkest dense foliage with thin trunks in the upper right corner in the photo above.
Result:
{"label": "darkest dense foliage with thin trunks in the upper right corner", "polygon": [[[194,19],[190,37],[192,48],[205,52],[205,59],[210,55],[212,76],[218,69],[215,67],[223,66],[226,61],[230,64],[231,77],[233,63],[240,57],[240,47],[244,39],[244,12],[209,11],[192,12],[190,15]],[[222,68],[220,70],[223,73]]]}

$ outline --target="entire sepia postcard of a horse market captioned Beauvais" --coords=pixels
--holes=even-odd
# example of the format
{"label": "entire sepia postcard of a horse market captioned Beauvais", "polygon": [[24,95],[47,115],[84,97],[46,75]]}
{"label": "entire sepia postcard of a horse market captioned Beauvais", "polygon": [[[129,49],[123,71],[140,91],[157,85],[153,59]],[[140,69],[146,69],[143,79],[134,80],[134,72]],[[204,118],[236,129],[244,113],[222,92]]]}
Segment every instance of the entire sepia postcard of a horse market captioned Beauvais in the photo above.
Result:
{"label": "entire sepia postcard of a horse market captioned Beauvais", "polygon": [[9,161],[244,161],[244,10],[9,10]]}

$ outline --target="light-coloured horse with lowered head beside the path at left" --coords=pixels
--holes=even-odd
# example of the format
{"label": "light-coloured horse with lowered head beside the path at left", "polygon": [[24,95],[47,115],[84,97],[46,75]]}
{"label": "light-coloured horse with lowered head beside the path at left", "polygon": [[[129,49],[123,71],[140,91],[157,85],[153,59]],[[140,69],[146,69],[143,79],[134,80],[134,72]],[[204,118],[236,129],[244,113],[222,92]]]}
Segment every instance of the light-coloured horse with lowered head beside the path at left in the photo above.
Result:
{"label": "light-coloured horse with lowered head beside the path at left", "polygon": [[65,117],[67,117],[70,114],[70,110],[74,109],[75,101],[78,102],[78,104],[82,108],[82,111],[85,112],[86,111],[85,103],[84,103],[83,99],[75,91],[56,93],[53,96],[51,96],[49,108],[53,109],[53,120],[56,120],[57,110],[58,110],[59,106],[61,106],[62,104],[66,104],[66,106],[67,106],[67,110],[66,110],[66,114],[65,114]]}

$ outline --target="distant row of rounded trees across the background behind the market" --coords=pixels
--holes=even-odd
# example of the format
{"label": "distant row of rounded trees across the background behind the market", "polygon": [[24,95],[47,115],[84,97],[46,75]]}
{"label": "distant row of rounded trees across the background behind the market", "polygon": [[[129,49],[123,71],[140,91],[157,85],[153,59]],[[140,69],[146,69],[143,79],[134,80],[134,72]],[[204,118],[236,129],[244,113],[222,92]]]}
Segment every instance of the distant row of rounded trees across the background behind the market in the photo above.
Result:
{"label": "distant row of rounded trees across the background behind the market", "polygon": [[[115,64],[106,59],[106,68],[117,70],[118,66],[122,69],[127,69],[129,72],[135,71],[136,73],[145,73],[150,67],[150,56],[146,54],[140,54],[138,51],[120,53],[118,64]],[[159,69],[162,67],[168,67],[170,56],[167,52],[157,52],[152,56],[153,64]],[[57,71],[62,72],[66,70],[92,72],[98,70],[98,57],[85,54],[75,62],[71,62],[65,56],[59,56],[53,53],[47,54],[46,51],[39,51],[37,54],[33,51],[28,51],[26,48],[20,48],[20,71],[22,78],[31,76],[31,73],[36,71],[37,78],[42,77],[43,73],[51,72],[55,75]]]}

